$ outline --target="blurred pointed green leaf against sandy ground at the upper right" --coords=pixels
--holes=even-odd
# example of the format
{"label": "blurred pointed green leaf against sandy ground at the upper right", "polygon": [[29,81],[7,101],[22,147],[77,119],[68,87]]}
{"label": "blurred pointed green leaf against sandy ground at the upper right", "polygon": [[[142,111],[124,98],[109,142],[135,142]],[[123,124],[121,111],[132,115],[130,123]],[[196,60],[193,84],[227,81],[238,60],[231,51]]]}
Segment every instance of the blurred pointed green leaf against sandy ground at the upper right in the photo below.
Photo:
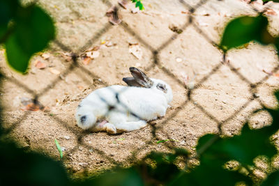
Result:
{"label": "blurred pointed green leaf against sandy ground at the upper right", "polygon": [[267,18],[262,15],[236,18],[227,24],[220,46],[227,51],[233,47],[240,47],[251,40],[264,45],[273,43],[274,38],[267,31],[267,24]]}

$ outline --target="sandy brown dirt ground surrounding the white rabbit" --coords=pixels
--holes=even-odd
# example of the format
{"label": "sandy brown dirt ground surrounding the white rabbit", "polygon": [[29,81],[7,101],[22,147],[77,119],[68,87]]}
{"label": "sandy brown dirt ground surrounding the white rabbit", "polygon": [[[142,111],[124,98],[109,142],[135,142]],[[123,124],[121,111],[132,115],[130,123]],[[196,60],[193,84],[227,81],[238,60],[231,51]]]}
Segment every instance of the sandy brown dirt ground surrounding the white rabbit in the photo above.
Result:
{"label": "sandy brown dirt ground surrounding the white rabbit", "polygon": [[[198,3],[195,0],[186,2],[191,6]],[[88,48],[100,47],[100,55],[87,62],[79,58],[79,66],[72,69],[72,62],[67,61],[63,49],[54,42],[50,49],[33,56],[27,75],[20,75],[8,68],[1,49],[0,68],[6,76],[1,102],[4,127],[12,127],[10,137],[24,148],[59,160],[54,144],[57,139],[64,150],[63,162],[75,176],[84,171],[96,173],[116,164],[128,166],[151,150],[169,151],[167,146],[171,145],[186,148],[195,155],[199,137],[218,132],[218,123],[225,122],[222,129],[228,136],[239,134],[247,120],[255,128],[271,123],[269,114],[252,114],[252,111],[261,108],[261,104],[276,107],[278,102],[273,91],[279,87],[278,77],[269,77],[253,90],[257,99],[253,98],[248,82],[261,81],[266,72],[278,65],[274,47],[251,42],[241,49],[232,49],[227,54],[227,62],[221,64],[223,53],[202,34],[213,42],[220,42],[229,20],[239,15],[256,15],[251,6],[241,0],[209,0],[193,14],[193,23],[202,33],[190,24],[175,38],[174,31],[169,28],[183,28],[188,23],[187,8],[173,0],[146,0],[143,3],[145,10],[140,13],[131,13],[132,3],[127,9],[119,8],[124,25],[136,33],[133,36],[126,27],[112,26],[108,22],[105,14],[110,7],[102,1],[39,1],[55,20],[59,42],[78,52],[93,38]],[[117,5],[117,1],[112,4]],[[276,12],[276,15],[268,16],[269,30],[278,35],[279,5],[269,3],[266,6]],[[130,54],[129,43],[138,43],[142,59]],[[150,69],[154,61],[151,49],[159,47],[158,61],[163,68]],[[49,58],[44,59],[41,54],[48,54]],[[46,67],[38,69],[38,61]],[[211,73],[218,65],[220,68]],[[130,76],[130,66],[172,86],[172,107],[164,118],[152,122],[157,128],[155,134],[152,134],[151,125],[118,135],[84,132],[77,127],[74,114],[82,98],[96,88],[124,85],[121,79]],[[230,70],[230,66],[248,81]],[[165,68],[175,77],[167,74]],[[209,74],[209,78],[199,84]],[[192,101],[188,100],[188,90],[183,84],[188,87],[199,84],[192,91]],[[32,91],[27,91],[28,88]],[[39,95],[38,100],[46,107],[45,111],[24,111],[23,98],[33,98],[35,94]],[[163,139],[175,141],[156,143]]]}

